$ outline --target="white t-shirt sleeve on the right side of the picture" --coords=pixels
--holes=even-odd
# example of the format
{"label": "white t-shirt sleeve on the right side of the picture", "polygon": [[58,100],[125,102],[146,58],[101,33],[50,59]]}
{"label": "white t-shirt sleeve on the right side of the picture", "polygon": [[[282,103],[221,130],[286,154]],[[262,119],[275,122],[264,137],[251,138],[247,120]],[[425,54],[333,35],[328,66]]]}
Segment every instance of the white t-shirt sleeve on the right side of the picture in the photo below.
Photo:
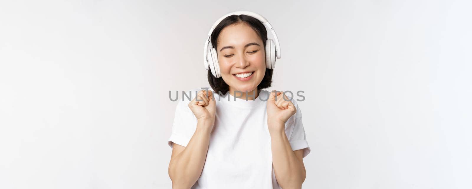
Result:
{"label": "white t-shirt sleeve on the right side of the picture", "polygon": [[289,120],[287,120],[285,132],[287,134],[288,141],[290,142],[290,146],[292,146],[292,150],[295,151],[303,149],[303,157],[305,157],[310,154],[311,149],[310,146],[308,146],[305,129],[303,128],[302,110],[295,100],[293,100],[292,103],[295,105],[296,113]]}

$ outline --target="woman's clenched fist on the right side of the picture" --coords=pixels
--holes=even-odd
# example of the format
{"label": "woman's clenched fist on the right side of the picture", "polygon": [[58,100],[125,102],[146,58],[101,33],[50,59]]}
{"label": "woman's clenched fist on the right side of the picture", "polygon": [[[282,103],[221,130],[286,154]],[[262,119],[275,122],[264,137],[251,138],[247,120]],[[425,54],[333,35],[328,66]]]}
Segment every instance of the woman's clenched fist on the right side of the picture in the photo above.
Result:
{"label": "woman's clenched fist on the right side of the picture", "polygon": [[267,124],[270,131],[284,130],[285,128],[274,127],[285,127],[285,122],[294,115],[295,112],[295,105],[283,91],[279,91],[277,94],[275,90],[270,92],[270,97],[267,100]]}

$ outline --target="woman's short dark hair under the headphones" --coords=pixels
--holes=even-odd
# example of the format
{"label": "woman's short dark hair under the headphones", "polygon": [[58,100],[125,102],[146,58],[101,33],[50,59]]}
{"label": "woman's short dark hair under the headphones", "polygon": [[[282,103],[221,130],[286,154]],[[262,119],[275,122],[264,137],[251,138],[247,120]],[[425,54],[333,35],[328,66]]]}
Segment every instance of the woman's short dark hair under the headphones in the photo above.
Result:
{"label": "woman's short dark hair under the headphones", "polygon": [[[221,30],[223,30],[223,28],[225,28],[226,26],[230,26],[237,23],[245,23],[251,26],[253,30],[259,35],[259,37],[261,37],[262,43],[264,43],[263,51],[265,51],[265,45],[267,40],[266,27],[257,18],[247,15],[231,15],[221,20],[221,22],[219,22],[219,24],[211,33],[211,44],[213,45],[213,48],[216,49],[218,45],[218,36],[221,33]],[[266,68],[264,78],[262,78],[261,83],[259,83],[259,85],[257,86],[258,93],[259,90],[269,88],[272,85],[272,71],[272,69]],[[210,86],[213,91],[215,91],[216,93],[226,94],[229,91],[229,86],[223,80],[223,77],[214,77],[213,74],[211,74],[210,69],[208,70],[208,82],[210,83]]]}

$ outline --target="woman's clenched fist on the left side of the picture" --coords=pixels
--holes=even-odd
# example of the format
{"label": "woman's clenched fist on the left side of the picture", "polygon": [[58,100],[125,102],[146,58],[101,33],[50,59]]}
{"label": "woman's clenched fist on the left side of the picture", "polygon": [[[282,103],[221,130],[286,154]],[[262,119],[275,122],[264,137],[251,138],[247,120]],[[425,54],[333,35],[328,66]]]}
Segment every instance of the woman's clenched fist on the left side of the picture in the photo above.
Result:
{"label": "woman's clenched fist on the left side of the picture", "polygon": [[[198,98],[198,101],[196,99]],[[195,96],[194,100],[188,103],[188,107],[194,113],[198,121],[208,121],[213,127],[216,113],[216,103],[213,100],[213,92],[211,90],[201,90]]]}

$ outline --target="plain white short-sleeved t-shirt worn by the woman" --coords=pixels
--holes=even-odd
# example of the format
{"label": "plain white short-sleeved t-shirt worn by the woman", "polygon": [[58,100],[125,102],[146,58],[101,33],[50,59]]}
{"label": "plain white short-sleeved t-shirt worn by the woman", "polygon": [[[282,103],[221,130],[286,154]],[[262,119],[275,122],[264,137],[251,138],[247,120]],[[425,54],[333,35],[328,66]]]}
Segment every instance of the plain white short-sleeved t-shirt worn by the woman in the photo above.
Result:
{"label": "plain white short-sleeved t-shirt worn by the woman", "polygon": [[[191,99],[195,98],[195,91],[200,90],[192,90]],[[261,89],[260,96],[254,101],[240,98],[235,101],[229,92],[221,95],[219,100],[218,93],[213,94],[216,102],[215,128],[210,136],[202,174],[191,189],[280,189],[272,166],[267,127],[266,104],[270,92]],[[189,102],[182,95],[178,98],[168,140],[170,147],[172,142],[187,146],[195,132],[197,119],[188,107]],[[292,103],[297,112],[287,120],[285,133],[292,150],[303,149],[305,157],[311,150],[303,129],[302,112],[295,97]]]}

